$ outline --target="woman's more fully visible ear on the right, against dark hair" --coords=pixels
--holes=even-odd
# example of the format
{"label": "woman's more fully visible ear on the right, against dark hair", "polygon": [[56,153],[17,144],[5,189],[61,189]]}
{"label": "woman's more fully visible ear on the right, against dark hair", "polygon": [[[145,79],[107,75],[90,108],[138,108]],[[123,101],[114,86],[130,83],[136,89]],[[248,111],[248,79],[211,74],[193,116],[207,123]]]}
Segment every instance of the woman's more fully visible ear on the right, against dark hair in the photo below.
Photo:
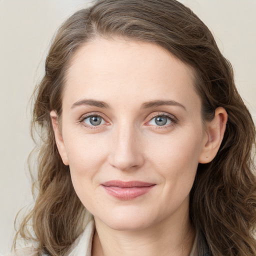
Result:
{"label": "woman's more fully visible ear on the right, against dark hair", "polygon": [[217,154],[224,136],[226,122],[226,110],[223,107],[217,107],[213,120],[206,122],[205,140],[199,155],[199,163],[208,163]]}

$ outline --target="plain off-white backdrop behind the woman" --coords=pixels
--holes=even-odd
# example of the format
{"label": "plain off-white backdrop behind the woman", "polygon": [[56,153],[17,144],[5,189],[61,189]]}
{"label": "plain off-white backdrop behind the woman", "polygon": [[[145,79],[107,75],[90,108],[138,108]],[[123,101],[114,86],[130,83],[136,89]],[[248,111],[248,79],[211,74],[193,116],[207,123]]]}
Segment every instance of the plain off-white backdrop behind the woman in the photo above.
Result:
{"label": "plain off-white backdrop behind the woman", "polygon": [[[234,67],[237,88],[256,120],[256,0],[180,0],[210,28]],[[90,1],[91,2],[91,1]],[[56,28],[86,0],[0,0],[0,253],[17,211],[32,202],[26,158],[33,148],[28,103],[43,74]]]}

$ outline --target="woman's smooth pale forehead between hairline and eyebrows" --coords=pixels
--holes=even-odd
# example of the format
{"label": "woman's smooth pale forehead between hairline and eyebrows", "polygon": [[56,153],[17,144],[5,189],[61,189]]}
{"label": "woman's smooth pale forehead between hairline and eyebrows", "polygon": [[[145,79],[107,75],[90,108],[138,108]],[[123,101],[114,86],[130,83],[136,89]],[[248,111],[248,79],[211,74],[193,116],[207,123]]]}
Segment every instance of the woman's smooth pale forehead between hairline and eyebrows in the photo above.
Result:
{"label": "woman's smooth pale forehead between hairline and eyebrows", "polygon": [[63,104],[82,97],[129,105],[154,99],[200,101],[192,68],[158,45],[120,39],[95,39],[73,56]]}

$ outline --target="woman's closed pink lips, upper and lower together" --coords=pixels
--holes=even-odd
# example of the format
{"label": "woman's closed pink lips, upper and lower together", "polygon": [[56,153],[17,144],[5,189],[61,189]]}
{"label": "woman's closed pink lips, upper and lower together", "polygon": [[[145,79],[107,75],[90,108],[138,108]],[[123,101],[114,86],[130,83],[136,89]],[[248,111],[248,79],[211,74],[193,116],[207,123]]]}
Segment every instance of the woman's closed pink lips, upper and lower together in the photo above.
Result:
{"label": "woman's closed pink lips, upper and lower together", "polygon": [[121,200],[130,200],[147,193],[155,184],[143,181],[109,180],[101,184],[105,191]]}

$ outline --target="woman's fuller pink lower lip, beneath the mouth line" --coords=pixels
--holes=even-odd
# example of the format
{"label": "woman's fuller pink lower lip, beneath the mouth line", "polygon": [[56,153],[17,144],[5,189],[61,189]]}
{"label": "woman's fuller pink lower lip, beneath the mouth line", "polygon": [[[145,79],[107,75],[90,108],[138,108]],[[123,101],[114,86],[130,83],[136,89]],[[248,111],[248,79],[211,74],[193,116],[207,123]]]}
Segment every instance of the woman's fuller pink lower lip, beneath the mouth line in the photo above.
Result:
{"label": "woman's fuller pink lower lip, beneath the mouth line", "polygon": [[108,194],[115,198],[120,200],[130,200],[147,193],[154,185],[141,187],[102,186]]}

